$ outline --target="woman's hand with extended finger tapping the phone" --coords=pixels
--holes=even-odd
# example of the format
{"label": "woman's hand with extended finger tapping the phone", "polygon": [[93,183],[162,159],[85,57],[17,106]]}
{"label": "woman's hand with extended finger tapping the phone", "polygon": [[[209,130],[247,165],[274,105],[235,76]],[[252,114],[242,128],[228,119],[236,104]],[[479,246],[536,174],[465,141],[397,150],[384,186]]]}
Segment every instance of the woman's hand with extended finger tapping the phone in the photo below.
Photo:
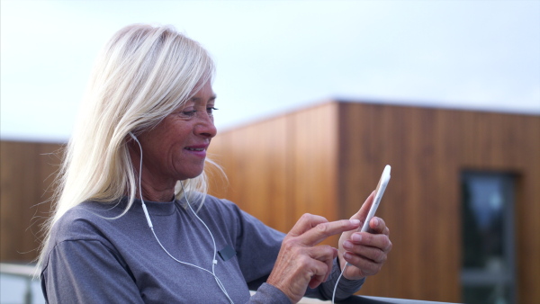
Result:
{"label": "woman's hand with extended finger tapping the phone", "polygon": [[333,260],[338,255],[338,249],[318,244],[327,237],[359,226],[357,219],[329,222],[320,216],[302,215],[284,237],[274,269],[266,282],[283,291],[293,303],[298,302],[308,286],[315,288],[328,279]]}

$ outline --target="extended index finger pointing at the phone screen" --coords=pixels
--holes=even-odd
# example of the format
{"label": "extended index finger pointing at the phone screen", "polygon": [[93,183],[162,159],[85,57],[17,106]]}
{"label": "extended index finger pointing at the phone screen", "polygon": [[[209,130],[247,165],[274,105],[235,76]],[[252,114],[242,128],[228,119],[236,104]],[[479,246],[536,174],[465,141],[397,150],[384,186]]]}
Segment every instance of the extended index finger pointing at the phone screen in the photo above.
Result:
{"label": "extended index finger pointing at the phone screen", "polygon": [[341,219],[327,223],[320,223],[298,237],[302,239],[301,243],[303,245],[315,246],[325,240],[327,237],[338,235],[358,227],[360,227],[360,220],[358,219]]}

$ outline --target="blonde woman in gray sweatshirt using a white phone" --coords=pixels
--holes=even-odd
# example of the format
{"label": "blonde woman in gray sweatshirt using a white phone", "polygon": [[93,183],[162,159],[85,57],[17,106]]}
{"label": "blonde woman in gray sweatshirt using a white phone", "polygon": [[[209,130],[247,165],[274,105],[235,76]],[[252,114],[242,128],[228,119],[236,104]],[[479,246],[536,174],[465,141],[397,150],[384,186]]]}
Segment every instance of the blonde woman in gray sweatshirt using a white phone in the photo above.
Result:
{"label": "blonde woman in gray sweatshirt using a white phone", "polygon": [[[206,50],[170,27],[131,25],[105,47],[40,255],[49,302],[329,299],[348,262],[343,299],[379,272],[392,247],[383,219],[370,222],[373,234],[354,233],[373,194],[350,220],[306,214],[286,236],[205,194],[213,70]],[[341,252],[318,245],[336,234]]]}

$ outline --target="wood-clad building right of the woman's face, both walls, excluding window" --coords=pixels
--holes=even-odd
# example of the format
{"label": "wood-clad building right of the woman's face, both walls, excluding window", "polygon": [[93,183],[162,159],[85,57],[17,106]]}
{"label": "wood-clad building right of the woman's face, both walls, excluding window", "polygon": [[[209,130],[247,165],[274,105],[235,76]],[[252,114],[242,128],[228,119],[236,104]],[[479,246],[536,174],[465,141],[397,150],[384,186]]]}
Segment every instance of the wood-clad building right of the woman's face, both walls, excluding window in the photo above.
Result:
{"label": "wood-clad building right of the woman's face, both walls, excluding window", "polygon": [[211,152],[229,191],[213,193],[286,232],[304,212],[349,218],[390,164],[378,215],[394,246],[361,293],[458,302],[460,174],[517,174],[518,297],[540,302],[539,134],[539,116],[325,103],[221,132]]}

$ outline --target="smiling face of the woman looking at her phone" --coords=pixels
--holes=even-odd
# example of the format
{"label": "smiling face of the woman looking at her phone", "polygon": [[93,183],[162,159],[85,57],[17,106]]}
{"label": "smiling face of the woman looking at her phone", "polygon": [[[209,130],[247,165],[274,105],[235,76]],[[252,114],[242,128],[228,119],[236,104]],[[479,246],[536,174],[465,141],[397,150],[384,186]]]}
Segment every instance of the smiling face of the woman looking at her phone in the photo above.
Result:
{"label": "smiling face of the woman looking at her phone", "polygon": [[[209,81],[184,106],[139,135],[143,190],[174,189],[176,181],[202,173],[206,149],[217,133],[212,116],[215,99]],[[132,150],[139,155],[137,145]],[[139,159],[133,165],[139,168]]]}

